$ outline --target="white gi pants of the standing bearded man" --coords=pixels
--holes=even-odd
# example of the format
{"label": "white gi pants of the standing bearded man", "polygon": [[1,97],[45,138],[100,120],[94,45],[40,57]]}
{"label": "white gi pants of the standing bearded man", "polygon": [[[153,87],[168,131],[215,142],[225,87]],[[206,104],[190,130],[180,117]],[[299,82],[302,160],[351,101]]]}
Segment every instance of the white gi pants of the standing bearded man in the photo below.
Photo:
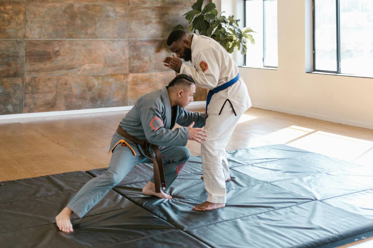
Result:
{"label": "white gi pants of the standing bearded man", "polygon": [[207,130],[208,137],[201,145],[201,155],[208,202],[226,202],[225,181],[229,178],[229,167],[225,147],[241,115],[235,116],[227,103],[220,115],[209,114],[206,119],[204,129]]}

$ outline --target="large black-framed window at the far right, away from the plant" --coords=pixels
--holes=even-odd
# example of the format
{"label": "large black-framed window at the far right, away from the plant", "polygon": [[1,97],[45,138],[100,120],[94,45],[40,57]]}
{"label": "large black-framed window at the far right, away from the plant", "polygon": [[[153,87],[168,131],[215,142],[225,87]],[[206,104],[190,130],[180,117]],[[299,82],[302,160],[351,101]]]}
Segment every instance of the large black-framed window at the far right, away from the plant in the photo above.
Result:
{"label": "large black-framed window at the far right, away from the plant", "polygon": [[373,1],[313,1],[313,70],[372,75]]}

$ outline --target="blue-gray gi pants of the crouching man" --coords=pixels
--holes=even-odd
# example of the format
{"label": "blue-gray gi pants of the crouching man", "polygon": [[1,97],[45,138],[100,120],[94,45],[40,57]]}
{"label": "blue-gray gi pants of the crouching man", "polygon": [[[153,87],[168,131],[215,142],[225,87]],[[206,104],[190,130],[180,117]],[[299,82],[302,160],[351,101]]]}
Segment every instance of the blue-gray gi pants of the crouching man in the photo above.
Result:
{"label": "blue-gray gi pants of the crouching man", "polygon": [[[115,136],[113,136],[113,141],[116,140]],[[166,185],[170,187],[184,164],[189,160],[190,152],[185,146],[166,146],[161,152]],[[119,143],[113,150],[107,171],[88,181],[67,207],[82,218],[109,190],[119,184],[138,163],[153,163],[153,160],[139,154],[135,156],[128,146],[122,147]],[[150,181],[154,183],[154,177]]]}

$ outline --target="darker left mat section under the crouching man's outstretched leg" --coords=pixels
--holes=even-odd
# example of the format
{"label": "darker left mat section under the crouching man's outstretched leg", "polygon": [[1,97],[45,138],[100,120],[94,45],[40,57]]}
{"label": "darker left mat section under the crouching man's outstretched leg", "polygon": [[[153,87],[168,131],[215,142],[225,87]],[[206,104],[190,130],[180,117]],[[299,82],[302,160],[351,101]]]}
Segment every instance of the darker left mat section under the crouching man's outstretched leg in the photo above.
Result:
{"label": "darker left mat section under the crouching man's outstretched leg", "polygon": [[208,247],[113,190],[83,218],[72,215],[72,233],[60,232],[54,218],[91,178],[75,171],[3,182],[0,247]]}

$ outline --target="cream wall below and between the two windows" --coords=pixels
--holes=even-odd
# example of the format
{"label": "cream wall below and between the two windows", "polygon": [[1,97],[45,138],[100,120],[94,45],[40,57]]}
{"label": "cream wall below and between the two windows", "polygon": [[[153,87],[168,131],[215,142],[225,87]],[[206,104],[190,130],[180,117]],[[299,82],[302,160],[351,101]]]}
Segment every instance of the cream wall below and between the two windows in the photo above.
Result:
{"label": "cream wall below and between the two windows", "polygon": [[373,129],[372,78],[305,73],[308,11],[310,0],[278,0],[278,70],[239,69],[253,107]]}

